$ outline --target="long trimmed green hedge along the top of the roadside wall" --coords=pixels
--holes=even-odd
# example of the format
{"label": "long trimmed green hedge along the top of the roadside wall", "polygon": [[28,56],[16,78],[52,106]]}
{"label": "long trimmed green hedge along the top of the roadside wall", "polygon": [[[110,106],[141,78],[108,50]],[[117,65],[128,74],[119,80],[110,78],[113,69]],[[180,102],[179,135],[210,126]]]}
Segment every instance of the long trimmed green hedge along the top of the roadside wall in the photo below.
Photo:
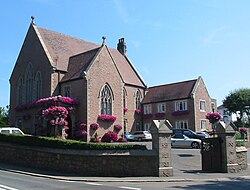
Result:
{"label": "long trimmed green hedge along the top of the roadside wall", "polygon": [[128,143],[90,143],[77,140],[64,140],[51,137],[38,137],[28,135],[0,134],[0,142],[15,143],[19,145],[34,147],[49,147],[60,149],[77,150],[127,150],[127,149],[146,149],[145,145]]}

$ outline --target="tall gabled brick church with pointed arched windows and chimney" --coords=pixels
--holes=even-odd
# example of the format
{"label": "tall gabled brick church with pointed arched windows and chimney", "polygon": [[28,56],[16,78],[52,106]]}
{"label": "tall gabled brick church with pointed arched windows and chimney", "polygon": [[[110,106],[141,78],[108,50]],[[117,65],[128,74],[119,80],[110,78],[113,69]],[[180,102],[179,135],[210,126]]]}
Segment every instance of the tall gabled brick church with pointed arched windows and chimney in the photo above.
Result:
{"label": "tall gabled brick church with pointed arched windows and chimney", "polygon": [[[146,84],[126,55],[124,38],[117,49],[105,40],[87,42],[38,27],[32,20],[10,77],[11,125],[46,135],[48,123],[41,112],[53,100],[71,108],[69,136],[83,123],[88,140],[113,131],[115,125],[123,126],[119,135],[139,130],[142,120],[135,110],[141,110]],[[66,97],[75,101],[64,101]],[[92,123],[99,124],[98,130],[90,130]]]}

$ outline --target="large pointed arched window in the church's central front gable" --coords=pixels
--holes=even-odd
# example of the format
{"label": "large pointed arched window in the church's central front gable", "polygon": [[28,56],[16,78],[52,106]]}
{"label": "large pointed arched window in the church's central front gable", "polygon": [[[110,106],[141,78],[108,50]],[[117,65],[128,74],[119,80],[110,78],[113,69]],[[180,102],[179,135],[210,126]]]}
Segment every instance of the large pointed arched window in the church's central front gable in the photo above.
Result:
{"label": "large pointed arched window in the church's central front gable", "polygon": [[101,114],[112,115],[112,102],[112,91],[106,84],[101,91]]}

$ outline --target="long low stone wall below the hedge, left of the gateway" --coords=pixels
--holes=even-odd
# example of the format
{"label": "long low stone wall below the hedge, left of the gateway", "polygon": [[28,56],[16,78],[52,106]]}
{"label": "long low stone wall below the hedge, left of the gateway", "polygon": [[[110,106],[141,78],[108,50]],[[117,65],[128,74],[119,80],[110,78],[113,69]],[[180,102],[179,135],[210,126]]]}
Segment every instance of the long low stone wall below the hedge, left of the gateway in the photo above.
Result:
{"label": "long low stone wall below the hedge, left of the gateway", "polygon": [[0,143],[0,161],[82,176],[158,176],[153,150],[61,150]]}

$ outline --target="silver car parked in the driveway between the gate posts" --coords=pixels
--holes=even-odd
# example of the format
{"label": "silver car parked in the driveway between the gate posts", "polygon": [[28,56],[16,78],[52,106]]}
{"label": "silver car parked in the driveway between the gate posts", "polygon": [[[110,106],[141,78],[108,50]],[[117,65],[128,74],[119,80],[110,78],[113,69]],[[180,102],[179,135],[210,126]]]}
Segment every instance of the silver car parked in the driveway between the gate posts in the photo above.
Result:
{"label": "silver car parked in the driveway between the gate posts", "polygon": [[179,148],[200,148],[201,140],[192,139],[183,134],[175,134],[171,137],[171,146]]}

